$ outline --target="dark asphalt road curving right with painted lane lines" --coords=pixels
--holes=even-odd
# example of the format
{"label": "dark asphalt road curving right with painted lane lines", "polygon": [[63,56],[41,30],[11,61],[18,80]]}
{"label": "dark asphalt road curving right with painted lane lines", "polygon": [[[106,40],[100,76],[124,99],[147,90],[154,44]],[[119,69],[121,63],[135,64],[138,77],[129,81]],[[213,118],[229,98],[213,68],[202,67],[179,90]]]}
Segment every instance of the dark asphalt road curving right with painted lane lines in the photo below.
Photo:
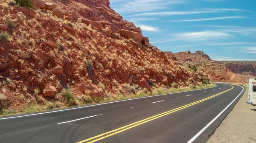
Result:
{"label": "dark asphalt road curving right with painted lane lines", "polygon": [[0,143],[205,143],[243,93],[242,87],[218,84],[203,90],[1,117]]}

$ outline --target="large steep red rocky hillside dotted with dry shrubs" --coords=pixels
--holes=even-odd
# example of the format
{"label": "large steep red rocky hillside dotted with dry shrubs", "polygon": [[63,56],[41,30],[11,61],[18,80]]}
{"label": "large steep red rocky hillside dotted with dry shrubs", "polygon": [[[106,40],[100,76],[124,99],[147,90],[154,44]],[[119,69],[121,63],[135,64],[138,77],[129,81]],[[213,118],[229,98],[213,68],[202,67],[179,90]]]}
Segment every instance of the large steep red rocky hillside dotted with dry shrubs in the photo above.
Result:
{"label": "large steep red rocky hillside dotted with dry shrubs", "polygon": [[110,8],[109,0],[33,3],[27,8],[13,0],[1,1],[4,108],[46,101],[65,105],[62,89],[76,98],[95,98],[151,91],[153,84],[185,87],[206,80],[152,46],[139,27]]}

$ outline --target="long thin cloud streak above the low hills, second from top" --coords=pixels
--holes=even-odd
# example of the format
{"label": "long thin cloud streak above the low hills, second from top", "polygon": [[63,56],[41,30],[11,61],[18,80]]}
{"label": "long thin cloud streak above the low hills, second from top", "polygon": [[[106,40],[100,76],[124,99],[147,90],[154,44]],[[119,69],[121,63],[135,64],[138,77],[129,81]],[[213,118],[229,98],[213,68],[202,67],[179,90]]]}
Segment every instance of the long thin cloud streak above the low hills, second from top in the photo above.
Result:
{"label": "long thin cloud streak above the low hills, second from top", "polygon": [[207,21],[207,20],[224,20],[224,19],[241,19],[241,18],[250,18],[250,17],[212,17],[212,18],[201,18],[201,19],[191,19],[191,20],[168,20],[168,22],[193,22],[193,21]]}

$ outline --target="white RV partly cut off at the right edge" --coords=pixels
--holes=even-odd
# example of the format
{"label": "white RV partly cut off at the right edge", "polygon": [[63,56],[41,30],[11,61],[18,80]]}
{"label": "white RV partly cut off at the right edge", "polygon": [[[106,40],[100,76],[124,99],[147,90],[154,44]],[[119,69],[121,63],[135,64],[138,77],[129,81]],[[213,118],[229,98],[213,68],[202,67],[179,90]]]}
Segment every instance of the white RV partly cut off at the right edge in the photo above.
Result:
{"label": "white RV partly cut off at the right edge", "polygon": [[256,78],[249,79],[248,102],[256,106]]}

